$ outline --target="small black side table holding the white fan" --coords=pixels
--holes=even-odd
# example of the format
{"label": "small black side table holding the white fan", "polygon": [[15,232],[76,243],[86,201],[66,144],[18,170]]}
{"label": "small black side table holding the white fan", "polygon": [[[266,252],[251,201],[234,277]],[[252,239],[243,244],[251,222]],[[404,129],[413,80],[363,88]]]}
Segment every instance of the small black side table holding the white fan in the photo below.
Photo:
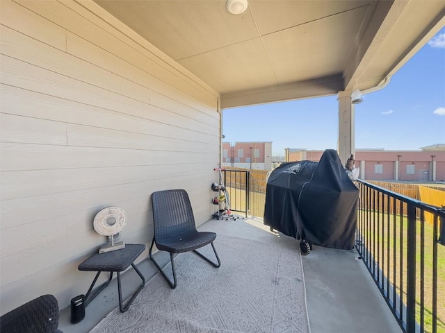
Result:
{"label": "small black side table holding the white fan", "polygon": [[[95,255],[92,255],[84,262],[79,264],[79,266],[77,267],[79,271],[97,271],[95,280],[92,281],[90,289],[88,289],[88,292],[86,293],[84,299],[85,306],[90,304],[90,302],[94,300],[96,296],[99,295],[99,293],[108,286],[108,284],[110,284],[111,279],[113,279],[113,272],[116,272],[118,274],[119,309],[121,312],[127,311],[133,300],[136,298],[136,296],[138,296],[138,293],[145,286],[144,275],[142,275],[136,265],[133,264],[136,258],[139,257],[139,255],[143,253],[144,250],[145,244],[126,244],[124,248],[121,248],[119,250],[114,250],[106,253],[96,253]],[[130,265],[133,266],[136,273],[138,273],[138,275],[142,279],[142,284],[140,284],[138,290],[133,293],[133,296],[131,296],[127,304],[124,305],[122,301],[122,288],[120,285],[120,272],[125,271]],[[97,287],[97,289],[91,294],[92,288],[95,286],[97,278],[99,278],[99,275],[102,272],[110,272],[110,278],[108,278],[106,282]]]}

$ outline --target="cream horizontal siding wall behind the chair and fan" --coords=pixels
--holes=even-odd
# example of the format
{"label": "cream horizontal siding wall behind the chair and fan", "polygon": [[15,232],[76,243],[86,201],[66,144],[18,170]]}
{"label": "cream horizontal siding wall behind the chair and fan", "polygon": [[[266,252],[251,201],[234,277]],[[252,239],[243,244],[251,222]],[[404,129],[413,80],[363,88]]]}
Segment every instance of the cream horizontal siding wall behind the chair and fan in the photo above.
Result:
{"label": "cream horizontal siding wall behind the chair and fan", "polygon": [[0,6],[1,314],[44,293],[63,308],[94,276],[77,266],[106,242],[102,208],[147,248],[153,191],[210,219],[219,96],[92,1]]}

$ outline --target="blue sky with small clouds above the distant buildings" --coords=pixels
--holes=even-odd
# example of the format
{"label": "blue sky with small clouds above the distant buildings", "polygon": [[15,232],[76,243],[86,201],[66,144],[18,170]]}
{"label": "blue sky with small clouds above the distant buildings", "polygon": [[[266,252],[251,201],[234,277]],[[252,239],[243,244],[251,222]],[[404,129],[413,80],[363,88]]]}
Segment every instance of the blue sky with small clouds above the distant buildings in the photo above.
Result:
{"label": "blue sky with small clouds above the distant buildings", "polygon": [[[445,28],[387,87],[363,97],[355,105],[355,148],[445,144]],[[284,148],[337,149],[337,96],[227,109],[223,134],[229,142],[273,142],[273,155],[284,155]]]}

